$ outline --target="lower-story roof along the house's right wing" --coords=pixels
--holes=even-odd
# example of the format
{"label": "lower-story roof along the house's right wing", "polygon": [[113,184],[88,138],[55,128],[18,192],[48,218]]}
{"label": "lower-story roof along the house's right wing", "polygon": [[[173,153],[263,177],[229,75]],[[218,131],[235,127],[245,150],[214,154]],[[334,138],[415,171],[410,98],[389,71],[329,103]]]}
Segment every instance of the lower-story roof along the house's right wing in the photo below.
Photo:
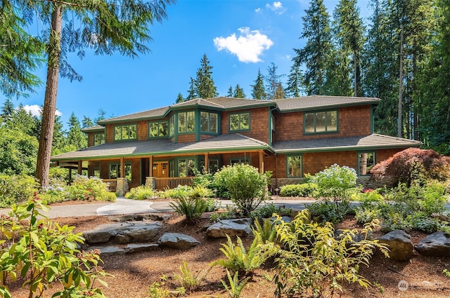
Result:
{"label": "lower-story roof along the house's right wing", "polygon": [[389,135],[364,135],[359,137],[324,137],[321,139],[292,140],[274,142],[272,147],[278,154],[316,152],[373,150],[389,148],[420,147],[422,142],[390,137]]}

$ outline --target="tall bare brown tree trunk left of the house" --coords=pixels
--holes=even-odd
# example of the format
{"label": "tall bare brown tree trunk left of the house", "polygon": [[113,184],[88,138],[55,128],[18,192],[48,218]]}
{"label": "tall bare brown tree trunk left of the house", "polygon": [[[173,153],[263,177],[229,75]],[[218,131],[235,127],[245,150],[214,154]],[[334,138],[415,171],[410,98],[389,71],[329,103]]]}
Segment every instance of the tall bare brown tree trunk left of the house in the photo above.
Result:
{"label": "tall bare brown tree trunk left of the house", "polygon": [[61,53],[61,32],[63,28],[63,6],[53,4],[51,14],[51,29],[49,40],[49,57],[47,62],[47,78],[42,109],[42,128],[37,153],[36,178],[41,187],[49,185],[49,168],[51,144],[53,142],[53,128],[55,126],[56,97],[58,94],[58,76]]}

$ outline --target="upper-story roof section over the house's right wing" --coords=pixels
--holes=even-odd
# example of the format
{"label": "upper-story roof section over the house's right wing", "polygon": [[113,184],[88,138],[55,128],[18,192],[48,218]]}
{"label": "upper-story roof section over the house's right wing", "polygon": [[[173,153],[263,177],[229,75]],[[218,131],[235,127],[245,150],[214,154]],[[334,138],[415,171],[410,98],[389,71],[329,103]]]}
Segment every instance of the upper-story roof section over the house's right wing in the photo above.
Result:
{"label": "upper-story roof section over the house's right wing", "polygon": [[283,98],[275,100],[279,111],[293,111],[309,109],[328,109],[333,107],[346,107],[361,104],[378,104],[379,98],[375,97],[347,97],[347,96],[304,96]]}

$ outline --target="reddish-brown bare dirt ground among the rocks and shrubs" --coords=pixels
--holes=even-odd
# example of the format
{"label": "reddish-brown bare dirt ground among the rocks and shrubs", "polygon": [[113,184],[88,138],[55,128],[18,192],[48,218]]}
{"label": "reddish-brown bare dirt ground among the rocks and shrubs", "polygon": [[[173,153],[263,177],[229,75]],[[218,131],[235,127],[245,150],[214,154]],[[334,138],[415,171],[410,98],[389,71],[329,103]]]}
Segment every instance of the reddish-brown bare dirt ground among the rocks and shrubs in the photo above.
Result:
{"label": "reddish-brown bare dirt ground among the rocks and shrubs", "polygon": [[[169,219],[163,223],[163,232],[186,233],[196,238],[200,244],[191,250],[179,251],[170,249],[156,249],[150,252],[140,252],[131,255],[103,256],[104,269],[113,278],[107,278],[108,287],[104,288],[106,297],[110,298],[141,298],[149,297],[148,290],[153,282],[161,282],[161,276],[166,276],[165,286],[170,290],[179,287],[174,278],[180,273],[179,266],[183,261],[188,263],[191,271],[201,274],[210,269],[210,263],[224,257],[219,251],[225,240],[211,240],[206,238],[204,226],[209,224],[209,214],[195,225],[187,225],[184,218],[170,213]],[[98,224],[109,222],[107,217],[68,217],[53,219],[60,224],[76,226],[76,232],[93,229]],[[357,227],[354,219],[346,219],[340,228],[352,229]],[[418,243],[425,235],[411,233],[414,243]],[[244,239],[248,246],[252,237]],[[271,281],[274,276],[273,264],[266,264],[256,271],[255,275],[245,286],[240,297],[263,298],[275,297],[276,286]],[[357,285],[346,285],[342,297],[450,297],[450,278],[442,271],[450,269],[450,257],[424,257],[416,255],[408,262],[395,262],[380,255],[375,255],[369,268],[361,268],[360,273],[374,285],[364,290]],[[226,273],[221,267],[213,267],[207,273],[204,283],[195,292],[186,293],[185,297],[229,297],[220,280],[226,279]],[[409,287],[406,291],[399,290],[399,282],[405,280]],[[48,297],[54,291],[48,290]],[[13,290],[13,297],[25,297],[20,289]],[[329,297],[329,296],[328,296]],[[335,295],[339,297],[339,295]]]}

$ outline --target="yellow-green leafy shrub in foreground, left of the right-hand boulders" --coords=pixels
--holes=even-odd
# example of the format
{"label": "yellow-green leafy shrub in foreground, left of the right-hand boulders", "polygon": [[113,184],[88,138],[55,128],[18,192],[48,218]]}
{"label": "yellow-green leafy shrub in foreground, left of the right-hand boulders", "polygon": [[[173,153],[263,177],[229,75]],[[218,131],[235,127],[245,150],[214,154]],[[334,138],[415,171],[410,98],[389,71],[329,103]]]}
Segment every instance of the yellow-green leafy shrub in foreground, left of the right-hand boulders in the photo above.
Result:
{"label": "yellow-green leafy shrub in foreground, left of the right-hand boulders", "polygon": [[[361,265],[369,266],[375,249],[387,255],[385,245],[368,240],[375,224],[367,224],[361,231],[343,230],[335,237],[335,230],[329,222],[320,225],[311,222],[307,210],[297,214],[292,222],[275,222],[282,249],[276,258],[276,295],[287,294],[324,297],[325,291],[342,292],[343,283],[358,283],[368,287],[371,283],[358,271]],[[364,236],[354,241],[356,233]]]}

